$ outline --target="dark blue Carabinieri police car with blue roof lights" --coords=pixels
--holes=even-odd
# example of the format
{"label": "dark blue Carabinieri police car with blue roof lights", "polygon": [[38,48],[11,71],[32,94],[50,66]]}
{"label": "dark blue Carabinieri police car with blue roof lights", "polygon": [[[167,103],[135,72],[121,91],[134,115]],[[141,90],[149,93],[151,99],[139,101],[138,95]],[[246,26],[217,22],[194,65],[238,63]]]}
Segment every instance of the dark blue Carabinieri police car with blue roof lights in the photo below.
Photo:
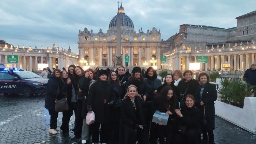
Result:
{"label": "dark blue Carabinieri police car with blue roof lights", "polygon": [[45,94],[47,82],[48,78],[42,78],[30,71],[0,67],[0,93],[22,94],[24,97]]}

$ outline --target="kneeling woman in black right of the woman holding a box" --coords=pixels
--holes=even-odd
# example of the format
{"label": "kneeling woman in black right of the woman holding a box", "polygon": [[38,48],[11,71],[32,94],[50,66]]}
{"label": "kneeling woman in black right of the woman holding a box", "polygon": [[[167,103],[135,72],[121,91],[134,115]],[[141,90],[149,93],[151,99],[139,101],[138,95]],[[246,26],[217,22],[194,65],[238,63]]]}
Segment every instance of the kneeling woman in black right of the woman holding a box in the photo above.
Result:
{"label": "kneeling woman in black right of the woman holding a box", "polygon": [[195,98],[192,95],[185,97],[185,105],[176,109],[175,113],[179,116],[176,123],[185,127],[184,134],[176,133],[174,136],[175,144],[199,144],[201,137],[201,120],[202,114],[195,106]]}

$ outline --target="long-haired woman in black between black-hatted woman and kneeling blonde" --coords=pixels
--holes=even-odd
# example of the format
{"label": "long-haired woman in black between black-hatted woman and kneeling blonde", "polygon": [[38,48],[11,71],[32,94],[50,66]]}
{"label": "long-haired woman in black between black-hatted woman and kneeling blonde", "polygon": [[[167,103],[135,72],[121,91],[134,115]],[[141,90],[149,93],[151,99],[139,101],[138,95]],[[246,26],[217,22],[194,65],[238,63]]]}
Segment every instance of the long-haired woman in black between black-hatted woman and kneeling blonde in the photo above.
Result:
{"label": "long-haired woman in black between black-hatted woman and kneeling blonde", "polygon": [[122,102],[123,88],[118,78],[118,74],[115,71],[111,71],[109,74],[109,83],[114,87],[116,93],[116,100],[110,107],[111,119],[110,119],[110,141],[117,143],[119,138],[119,121],[120,121],[120,105]]}

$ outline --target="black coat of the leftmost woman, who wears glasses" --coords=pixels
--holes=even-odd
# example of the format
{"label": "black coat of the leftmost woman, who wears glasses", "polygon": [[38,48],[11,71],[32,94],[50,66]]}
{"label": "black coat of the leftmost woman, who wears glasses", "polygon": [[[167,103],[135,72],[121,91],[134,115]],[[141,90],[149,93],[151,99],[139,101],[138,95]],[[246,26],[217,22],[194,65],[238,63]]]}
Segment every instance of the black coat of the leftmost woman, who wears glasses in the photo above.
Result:
{"label": "black coat of the leftmost woman, who wears glasses", "polygon": [[[59,86],[59,91],[58,91]],[[65,92],[64,82],[60,79],[60,77],[56,77],[55,75],[50,75],[46,88],[45,102],[44,107],[47,110],[55,110],[55,98],[57,95],[57,99],[63,98],[63,92]]]}

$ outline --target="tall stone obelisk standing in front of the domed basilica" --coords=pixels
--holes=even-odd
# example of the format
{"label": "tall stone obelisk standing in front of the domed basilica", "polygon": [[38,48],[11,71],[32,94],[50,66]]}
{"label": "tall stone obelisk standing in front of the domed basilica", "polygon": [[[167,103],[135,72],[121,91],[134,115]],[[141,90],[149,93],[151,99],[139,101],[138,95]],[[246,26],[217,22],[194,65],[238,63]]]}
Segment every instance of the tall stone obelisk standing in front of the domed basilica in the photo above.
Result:
{"label": "tall stone obelisk standing in front of the domed basilica", "polygon": [[119,13],[119,7],[118,12],[116,14],[116,66],[120,67],[122,66],[122,54],[121,54],[121,17]]}

